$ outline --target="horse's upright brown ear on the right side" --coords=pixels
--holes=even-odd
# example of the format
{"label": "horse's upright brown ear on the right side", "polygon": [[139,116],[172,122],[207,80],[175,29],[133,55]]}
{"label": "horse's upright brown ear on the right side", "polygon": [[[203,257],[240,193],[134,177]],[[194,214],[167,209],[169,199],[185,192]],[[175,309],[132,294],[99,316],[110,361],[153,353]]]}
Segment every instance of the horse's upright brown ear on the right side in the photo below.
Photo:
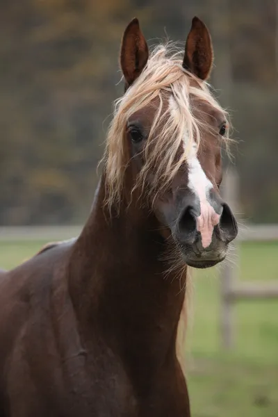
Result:
{"label": "horse's upright brown ear on the right side", "polygon": [[183,68],[195,74],[199,79],[206,80],[213,64],[213,46],[208,28],[193,17],[192,26],[186,40],[186,51],[183,58]]}

